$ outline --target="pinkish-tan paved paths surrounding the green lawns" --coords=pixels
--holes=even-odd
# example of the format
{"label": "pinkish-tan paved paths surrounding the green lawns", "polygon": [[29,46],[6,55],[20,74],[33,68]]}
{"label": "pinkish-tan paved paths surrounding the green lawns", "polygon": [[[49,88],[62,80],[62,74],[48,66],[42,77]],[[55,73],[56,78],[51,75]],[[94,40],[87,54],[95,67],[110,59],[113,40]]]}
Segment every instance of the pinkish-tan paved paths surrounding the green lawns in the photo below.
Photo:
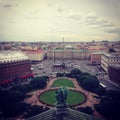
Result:
{"label": "pinkish-tan paved paths surrounding the green lawns", "polygon": [[[25,99],[24,102],[29,103],[29,104],[31,104],[31,105],[40,105],[40,106],[46,107],[45,104],[43,104],[43,103],[41,103],[41,102],[39,101],[38,97],[40,96],[41,93],[43,93],[43,92],[45,92],[45,91],[47,91],[47,90],[56,89],[56,88],[51,88],[51,85],[53,84],[53,82],[54,82],[56,79],[57,79],[57,78],[54,78],[54,79],[49,80],[49,82],[48,82],[48,84],[47,84],[47,86],[46,86],[45,89],[37,90],[37,91],[28,93],[29,95],[31,95],[31,97]],[[90,107],[92,107],[93,110],[95,111],[93,105],[100,102],[98,99],[93,98],[93,96],[97,96],[97,95],[94,94],[94,93],[92,93],[92,92],[89,92],[89,91],[86,91],[86,90],[82,89],[82,88],[79,86],[78,82],[77,82],[75,79],[73,79],[73,78],[69,78],[69,79],[70,79],[70,80],[74,83],[74,85],[75,85],[75,88],[72,88],[72,89],[84,93],[84,94],[86,95],[86,98],[87,98],[86,101],[85,101],[83,104],[81,104],[81,105],[79,105],[79,106],[76,106],[76,108],[77,108],[77,107],[90,106]],[[50,107],[50,108],[52,108],[52,107]],[[101,116],[98,112],[96,112],[96,111],[94,112],[94,115],[97,116],[97,117],[102,118],[102,116]]]}

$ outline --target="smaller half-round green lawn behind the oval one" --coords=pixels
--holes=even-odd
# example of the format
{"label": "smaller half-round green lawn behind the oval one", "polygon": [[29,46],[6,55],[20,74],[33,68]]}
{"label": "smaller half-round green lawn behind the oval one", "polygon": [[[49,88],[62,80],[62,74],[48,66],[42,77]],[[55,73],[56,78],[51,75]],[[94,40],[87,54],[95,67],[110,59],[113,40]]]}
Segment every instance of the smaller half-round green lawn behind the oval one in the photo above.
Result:
{"label": "smaller half-round green lawn behind the oval one", "polygon": [[75,87],[73,82],[66,78],[59,78],[55,80],[52,85],[52,87],[61,87],[61,86]]}

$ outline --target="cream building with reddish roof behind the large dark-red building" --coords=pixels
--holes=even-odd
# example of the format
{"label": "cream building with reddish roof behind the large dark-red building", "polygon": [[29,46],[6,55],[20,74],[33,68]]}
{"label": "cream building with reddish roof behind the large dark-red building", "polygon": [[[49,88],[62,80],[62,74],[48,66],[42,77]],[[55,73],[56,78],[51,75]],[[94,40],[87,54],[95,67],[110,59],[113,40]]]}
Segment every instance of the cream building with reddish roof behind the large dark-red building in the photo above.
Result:
{"label": "cream building with reddish roof behind the large dark-red building", "polygon": [[44,50],[24,50],[23,52],[31,61],[42,61],[45,58]]}

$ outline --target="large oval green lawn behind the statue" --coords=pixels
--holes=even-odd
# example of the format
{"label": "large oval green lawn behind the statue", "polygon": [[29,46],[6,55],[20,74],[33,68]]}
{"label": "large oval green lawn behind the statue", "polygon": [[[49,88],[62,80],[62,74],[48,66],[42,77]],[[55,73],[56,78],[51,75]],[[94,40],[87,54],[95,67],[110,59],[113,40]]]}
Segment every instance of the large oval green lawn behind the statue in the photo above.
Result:
{"label": "large oval green lawn behind the statue", "polygon": [[[74,91],[74,90],[69,90],[69,96],[67,98],[67,103],[68,105],[72,106],[72,105],[76,105],[76,104],[80,104],[84,102],[85,99],[86,98],[82,93]],[[40,100],[46,104],[54,105],[56,102],[55,90],[49,90],[47,92],[44,92],[40,96]]]}

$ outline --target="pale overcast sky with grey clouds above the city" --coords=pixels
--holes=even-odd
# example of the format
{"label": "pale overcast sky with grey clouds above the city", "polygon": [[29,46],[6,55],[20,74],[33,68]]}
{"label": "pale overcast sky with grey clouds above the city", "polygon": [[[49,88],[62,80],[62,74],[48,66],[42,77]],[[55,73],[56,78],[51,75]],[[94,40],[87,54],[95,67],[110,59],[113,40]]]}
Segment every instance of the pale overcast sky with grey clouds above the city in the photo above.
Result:
{"label": "pale overcast sky with grey clouds above the city", "polygon": [[120,40],[120,0],[0,0],[0,41]]}

